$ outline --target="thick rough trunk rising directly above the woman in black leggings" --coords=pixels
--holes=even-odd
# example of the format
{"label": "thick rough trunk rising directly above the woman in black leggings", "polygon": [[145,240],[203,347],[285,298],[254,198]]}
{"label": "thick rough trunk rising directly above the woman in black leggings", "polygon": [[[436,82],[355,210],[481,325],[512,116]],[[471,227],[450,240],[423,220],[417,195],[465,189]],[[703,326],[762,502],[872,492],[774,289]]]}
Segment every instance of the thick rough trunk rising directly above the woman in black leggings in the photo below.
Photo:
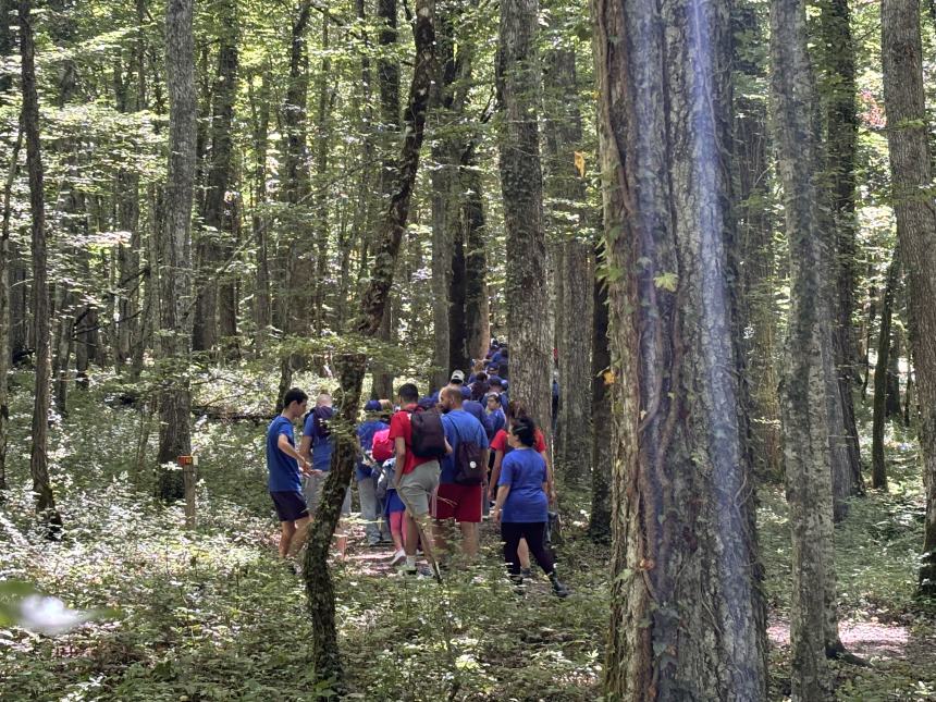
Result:
{"label": "thick rough trunk rising directly above the woman in black leggings", "polygon": [[501,190],[507,233],[507,334],[510,399],[527,406],[551,433],[552,330],[546,323],[546,241],[543,174],[537,124],[540,64],[537,0],[504,0],[497,49],[497,93],[503,110]]}

